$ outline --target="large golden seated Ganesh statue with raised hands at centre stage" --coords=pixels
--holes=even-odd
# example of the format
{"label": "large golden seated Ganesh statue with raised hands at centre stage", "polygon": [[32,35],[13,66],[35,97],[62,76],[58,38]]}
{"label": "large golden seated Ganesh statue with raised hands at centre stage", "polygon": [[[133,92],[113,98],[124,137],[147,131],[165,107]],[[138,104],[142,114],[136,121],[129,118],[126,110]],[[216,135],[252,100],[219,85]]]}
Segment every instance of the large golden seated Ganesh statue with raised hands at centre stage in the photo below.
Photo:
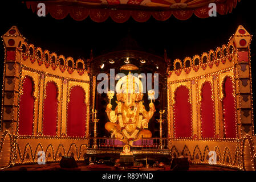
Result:
{"label": "large golden seated Ganesh statue with raised hands at centre stage", "polygon": [[155,92],[148,92],[151,103],[149,111],[145,110],[143,105],[143,86],[138,77],[128,76],[122,77],[116,85],[117,106],[112,110],[110,104],[113,98],[113,91],[108,92],[109,104],[105,112],[109,121],[105,123],[105,129],[111,133],[111,137],[115,137],[123,141],[125,144],[132,146],[133,141],[143,138],[151,138],[151,131],[147,130],[149,119],[155,113],[155,105],[152,103]]}

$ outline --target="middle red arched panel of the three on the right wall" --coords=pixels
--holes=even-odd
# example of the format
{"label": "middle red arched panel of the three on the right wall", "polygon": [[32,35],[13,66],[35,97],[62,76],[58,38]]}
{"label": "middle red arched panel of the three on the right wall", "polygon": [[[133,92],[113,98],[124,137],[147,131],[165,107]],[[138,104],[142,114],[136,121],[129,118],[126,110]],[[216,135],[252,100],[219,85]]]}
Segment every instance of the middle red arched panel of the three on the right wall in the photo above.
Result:
{"label": "middle red arched panel of the three on the right wall", "polygon": [[212,86],[206,82],[201,90],[201,129],[202,138],[215,137],[214,101],[212,99]]}

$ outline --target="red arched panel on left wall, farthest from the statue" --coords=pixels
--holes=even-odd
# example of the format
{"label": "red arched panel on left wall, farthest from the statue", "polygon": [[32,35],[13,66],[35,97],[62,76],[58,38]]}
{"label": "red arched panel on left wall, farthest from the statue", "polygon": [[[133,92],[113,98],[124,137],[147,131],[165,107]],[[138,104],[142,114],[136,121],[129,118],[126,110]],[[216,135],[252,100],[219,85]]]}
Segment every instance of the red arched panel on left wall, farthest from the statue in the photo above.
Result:
{"label": "red arched panel on left wall, farthest from the statue", "polygon": [[19,101],[19,134],[32,135],[34,120],[34,83],[30,77],[25,77],[22,85],[23,94]]}

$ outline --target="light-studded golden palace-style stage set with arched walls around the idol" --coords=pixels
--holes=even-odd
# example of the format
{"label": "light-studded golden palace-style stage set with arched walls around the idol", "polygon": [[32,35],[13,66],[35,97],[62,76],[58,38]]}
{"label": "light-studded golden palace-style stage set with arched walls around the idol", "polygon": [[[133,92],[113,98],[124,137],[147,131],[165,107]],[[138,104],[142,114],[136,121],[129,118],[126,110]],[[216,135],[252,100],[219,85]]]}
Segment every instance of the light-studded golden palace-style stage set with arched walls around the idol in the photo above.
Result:
{"label": "light-studded golden palace-style stage set with arched walls around the idol", "polygon": [[[74,60],[11,27],[3,35],[1,169],[36,164],[39,151],[46,163],[182,155],[208,165],[214,151],[216,166],[255,170],[250,42],[239,26],[222,47],[173,64],[137,50]],[[97,92],[97,75],[111,68],[125,74],[116,92]],[[159,97],[136,72],[159,73]]]}

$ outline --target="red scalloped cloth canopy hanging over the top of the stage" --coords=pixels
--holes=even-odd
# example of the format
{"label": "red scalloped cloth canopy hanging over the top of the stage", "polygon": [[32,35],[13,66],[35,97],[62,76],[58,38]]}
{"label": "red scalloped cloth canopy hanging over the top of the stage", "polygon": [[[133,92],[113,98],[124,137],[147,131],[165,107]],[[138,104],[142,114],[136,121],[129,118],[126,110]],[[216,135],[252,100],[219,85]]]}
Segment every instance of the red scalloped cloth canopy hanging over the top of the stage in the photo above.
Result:
{"label": "red scalloped cloth canopy hanging over the top of the stage", "polygon": [[104,22],[110,16],[117,23],[126,22],[131,16],[137,22],[146,22],[151,16],[164,21],[174,16],[180,20],[193,14],[199,18],[209,17],[209,3],[216,3],[217,13],[231,13],[240,0],[54,0],[27,1],[28,9],[38,10],[38,3],[46,5],[46,14],[63,19],[68,14],[74,20],[84,20],[89,15],[95,22]]}

